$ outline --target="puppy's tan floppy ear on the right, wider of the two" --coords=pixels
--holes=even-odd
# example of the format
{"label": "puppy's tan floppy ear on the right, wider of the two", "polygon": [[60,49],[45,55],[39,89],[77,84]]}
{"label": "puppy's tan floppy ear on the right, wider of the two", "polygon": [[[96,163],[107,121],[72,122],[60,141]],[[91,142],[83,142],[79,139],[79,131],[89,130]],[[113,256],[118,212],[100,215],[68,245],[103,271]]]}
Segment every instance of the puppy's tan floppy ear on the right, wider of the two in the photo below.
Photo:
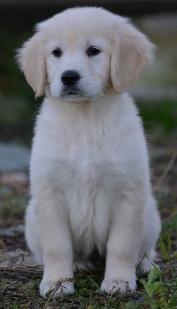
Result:
{"label": "puppy's tan floppy ear on the right, wider of the two", "polygon": [[116,16],[111,58],[111,80],[117,92],[137,80],[153,59],[155,46],[128,19]]}

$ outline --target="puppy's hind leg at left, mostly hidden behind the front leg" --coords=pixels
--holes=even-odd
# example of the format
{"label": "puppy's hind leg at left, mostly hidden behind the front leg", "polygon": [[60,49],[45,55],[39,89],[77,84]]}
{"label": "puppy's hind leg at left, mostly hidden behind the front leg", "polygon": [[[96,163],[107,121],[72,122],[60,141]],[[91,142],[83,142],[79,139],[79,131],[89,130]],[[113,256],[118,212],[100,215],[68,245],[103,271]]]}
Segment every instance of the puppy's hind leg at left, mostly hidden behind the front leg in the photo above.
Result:
{"label": "puppy's hind leg at left, mostly hidden behind the front leg", "polygon": [[39,265],[43,264],[43,253],[39,240],[38,223],[33,209],[33,201],[31,200],[27,206],[25,214],[25,238],[28,247],[35,255],[36,262]]}

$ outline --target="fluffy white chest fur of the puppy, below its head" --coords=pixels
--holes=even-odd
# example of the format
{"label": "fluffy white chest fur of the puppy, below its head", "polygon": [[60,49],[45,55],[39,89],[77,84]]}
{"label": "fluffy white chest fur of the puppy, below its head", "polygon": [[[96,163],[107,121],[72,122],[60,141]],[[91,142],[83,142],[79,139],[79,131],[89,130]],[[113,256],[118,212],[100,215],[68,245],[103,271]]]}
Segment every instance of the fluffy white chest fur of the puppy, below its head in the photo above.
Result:
{"label": "fluffy white chest fur of the puppy, below its head", "polygon": [[32,192],[52,188],[58,200],[62,198],[75,248],[82,248],[85,255],[95,245],[100,252],[105,249],[113,208],[119,207],[127,189],[138,188],[142,172],[145,181],[148,178],[141,124],[133,102],[128,102],[125,106],[104,102],[99,115],[95,104],[87,108],[75,104],[66,112],[68,106],[57,110],[56,102],[50,106],[44,102],[38,117]]}

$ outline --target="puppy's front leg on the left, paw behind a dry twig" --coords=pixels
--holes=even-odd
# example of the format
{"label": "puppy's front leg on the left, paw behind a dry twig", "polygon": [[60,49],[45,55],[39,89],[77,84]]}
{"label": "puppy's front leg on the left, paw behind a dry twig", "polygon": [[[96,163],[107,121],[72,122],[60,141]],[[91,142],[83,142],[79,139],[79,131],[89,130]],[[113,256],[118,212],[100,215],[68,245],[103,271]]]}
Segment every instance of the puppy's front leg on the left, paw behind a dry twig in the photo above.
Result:
{"label": "puppy's front leg on the left, paw behind a dry twig", "polygon": [[[50,196],[50,198],[49,198]],[[35,214],[39,224],[39,238],[43,250],[44,273],[40,294],[55,288],[60,278],[72,278],[72,241],[65,205],[58,197],[43,192]],[[63,282],[54,297],[74,292],[73,282]]]}

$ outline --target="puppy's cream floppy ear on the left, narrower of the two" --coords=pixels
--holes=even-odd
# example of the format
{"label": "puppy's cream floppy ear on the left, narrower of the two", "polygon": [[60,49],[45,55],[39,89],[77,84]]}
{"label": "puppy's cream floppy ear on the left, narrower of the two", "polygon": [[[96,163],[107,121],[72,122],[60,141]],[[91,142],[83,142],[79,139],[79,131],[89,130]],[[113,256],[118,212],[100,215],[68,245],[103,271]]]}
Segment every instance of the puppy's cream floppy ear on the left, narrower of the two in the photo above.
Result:
{"label": "puppy's cream floppy ear on the left, narrower of the two", "polygon": [[21,70],[29,85],[35,91],[35,96],[42,96],[47,83],[46,63],[42,50],[42,38],[36,33],[30,40],[18,49],[16,56]]}

